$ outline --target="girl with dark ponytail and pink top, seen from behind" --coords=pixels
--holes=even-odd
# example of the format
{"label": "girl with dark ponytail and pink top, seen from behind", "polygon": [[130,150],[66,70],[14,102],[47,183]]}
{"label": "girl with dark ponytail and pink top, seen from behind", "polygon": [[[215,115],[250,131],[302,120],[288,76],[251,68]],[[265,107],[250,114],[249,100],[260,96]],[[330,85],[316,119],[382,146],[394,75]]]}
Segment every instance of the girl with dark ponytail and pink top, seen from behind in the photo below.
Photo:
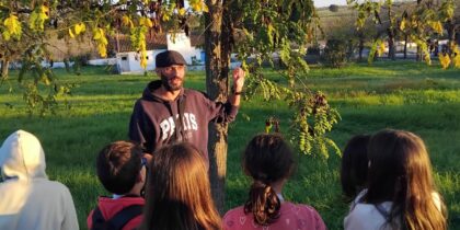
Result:
{"label": "girl with dark ponytail and pink top, seen from behind", "polygon": [[283,186],[294,169],[294,153],[280,136],[255,136],[243,153],[242,164],[253,180],[249,199],[225,215],[223,229],[325,229],[314,208],[283,198]]}

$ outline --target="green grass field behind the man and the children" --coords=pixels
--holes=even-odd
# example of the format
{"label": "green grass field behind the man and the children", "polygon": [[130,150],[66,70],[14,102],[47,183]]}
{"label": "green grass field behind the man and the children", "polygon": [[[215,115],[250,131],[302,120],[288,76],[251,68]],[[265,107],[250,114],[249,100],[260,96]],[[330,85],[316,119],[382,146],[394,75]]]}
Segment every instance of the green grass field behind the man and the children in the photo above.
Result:
{"label": "green grass field behind the man and the children", "polygon": [[[106,143],[127,138],[133,104],[153,77],[113,76],[101,68],[85,68],[81,76],[57,70],[61,81],[77,83],[69,99],[71,110],[55,116],[30,117],[20,91],[9,94],[0,88],[0,140],[15,129],[35,134],[44,146],[47,173],[66,184],[78,210],[80,227],[106,194],[95,177],[97,151]],[[276,78],[275,73],[273,74]],[[321,90],[338,110],[342,120],[330,137],[343,149],[356,134],[382,128],[407,129],[426,142],[435,171],[435,181],[449,211],[449,229],[460,229],[460,71],[441,70],[415,62],[376,62],[350,65],[343,69],[312,67],[304,81]],[[204,72],[188,72],[187,87],[204,90]],[[12,108],[5,105],[13,105]],[[229,129],[226,209],[246,198],[249,180],[240,169],[240,153],[249,139],[264,130],[264,120],[277,116],[281,131],[288,133],[290,111],[283,101],[243,102],[238,119]],[[296,174],[284,194],[289,200],[314,206],[330,229],[342,229],[348,205],[341,196],[340,157],[327,160],[299,156]]]}

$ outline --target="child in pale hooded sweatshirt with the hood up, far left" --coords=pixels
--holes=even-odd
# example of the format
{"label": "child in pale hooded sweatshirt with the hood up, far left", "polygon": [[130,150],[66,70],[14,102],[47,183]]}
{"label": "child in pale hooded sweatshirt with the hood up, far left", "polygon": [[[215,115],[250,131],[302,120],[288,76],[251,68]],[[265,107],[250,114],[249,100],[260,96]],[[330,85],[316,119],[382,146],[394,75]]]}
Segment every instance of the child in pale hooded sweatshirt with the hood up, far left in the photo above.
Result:
{"label": "child in pale hooded sweatshirt with the hood up, far left", "polygon": [[45,152],[32,134],[18,130],[0,148],[0,229],[79,229],[69,189],[46,175]]}

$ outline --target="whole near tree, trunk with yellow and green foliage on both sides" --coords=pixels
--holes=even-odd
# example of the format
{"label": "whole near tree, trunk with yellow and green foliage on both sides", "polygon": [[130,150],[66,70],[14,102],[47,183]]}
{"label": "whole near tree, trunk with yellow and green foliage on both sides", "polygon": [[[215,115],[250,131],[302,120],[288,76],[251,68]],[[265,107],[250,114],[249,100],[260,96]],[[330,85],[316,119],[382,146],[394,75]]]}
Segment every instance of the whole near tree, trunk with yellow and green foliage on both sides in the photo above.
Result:
{"label": "whole near tree, trunk with yellow and green foliage on both sides", "polygon": [[[238,53],[242,67],[249,71],[246,96],[262,92],[265,100],[284,99],[292,107],[292,140],[301,152],[326,158],[329,148],[340,152],[325,134],[340,119],[325,95],[314,92],[302,81],[308,71],[303,60],[306,44],[312,41],[318,16],[311,0],[0,0],[0,21],[4,41],[23,43],[23,34],[33,31],[38,37],[30,55],[21,55],[23,71],[32,72],[34,92],[39,95],[38,84],[48,85],[51,102],[68,93],[58,84],[51,69],[43,68],[46,58],[46,36],[58,34],[65,39],[81,39],[91,35],[101,57],[107,55],[107,36],[129,33],[134,48],[140,53],[140,65],[146,67],[146,34],[168,31],[189,32],[189,19],[204,16],[206,32],[206,82],[209,95],[225,101],[229,89],[231,53]],[[285,77],[285,84],[265,78],[261,66],[275,57],[284,68],[277,71]],[[37,74],[38,73],[38,74]],[[42,74],[44,73],[44,74]],[[24,74],[24,77],[26,77]],[[7,79],[7,77],[2,77]],[[26,91],[28,92],[28,91]],[[46,100],[41,105],[47,107]],[[227,126],[211,127],[209,138],[210,175],[216,203],[223,210],[223,185],[227,161]]]}

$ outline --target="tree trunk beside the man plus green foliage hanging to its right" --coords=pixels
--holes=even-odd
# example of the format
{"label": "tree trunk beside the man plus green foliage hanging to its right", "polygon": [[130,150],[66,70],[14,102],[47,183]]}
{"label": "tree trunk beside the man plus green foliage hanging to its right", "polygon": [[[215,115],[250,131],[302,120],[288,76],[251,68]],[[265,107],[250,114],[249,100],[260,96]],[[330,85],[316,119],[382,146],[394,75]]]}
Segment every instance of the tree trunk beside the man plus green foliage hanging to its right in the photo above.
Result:
{"label": "tree trunk beside the man plus green foliage hanging to its right", "polygon": [[[308,69],[303,60],[306,44],[312,41],[315,18],[312,1],[244,1],[208,0],[209,13],[205,14],[206,31],[206,76],[207,91],[218,100],[225,101],[229,92],[228,73],[230,55],[237,51],[243,68],[250,70],[246,94],[264,92],[266,100],[286,95],[296,108],[292,117],[297,126],[297,143],[303,152],[317,148],[324,156],[326,146],[336,148],[332,140],[324,137],[337,122],[338,114],[327,105],[325,96],[308,91],[304,85],[295,87],[300,76]],[[292,46],[295,44],[295,46]],[[288,87],[278,85],[264,78],[260,68],[263,61],[274,66],[273,53],[286,69],[279,70],[289,82]],[[248,62],[251,58],[254,60]],[[296,123],[297,122],[297,123]],[[214,196],[220,211],[223,211],[227,126],[211,125],[210,164]],[[338,151],[338,150],[337,150]]]}

